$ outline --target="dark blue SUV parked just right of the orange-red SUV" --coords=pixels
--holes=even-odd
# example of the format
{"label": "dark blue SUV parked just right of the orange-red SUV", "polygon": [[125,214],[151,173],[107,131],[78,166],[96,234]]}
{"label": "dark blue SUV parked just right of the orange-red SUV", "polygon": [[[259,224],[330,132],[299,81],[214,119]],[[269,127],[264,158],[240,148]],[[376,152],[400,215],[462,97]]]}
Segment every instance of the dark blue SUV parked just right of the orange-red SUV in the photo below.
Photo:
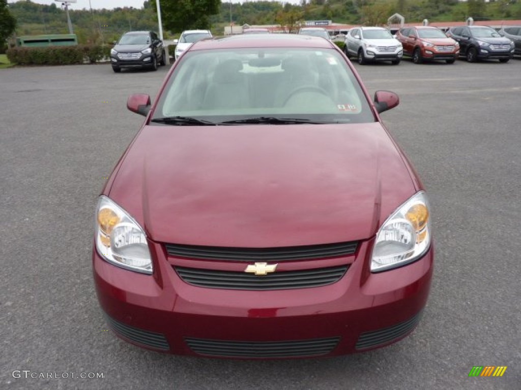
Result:
{"label": "dark blue SUV parked just right of the orange-red SUV", "polygon": [[451,27],[447,36],[460,44],[460,55],[468,62],[480,59],[497,59],[508,62],[514,55],[514,42],[502,37],[491,27],[466,25]]}

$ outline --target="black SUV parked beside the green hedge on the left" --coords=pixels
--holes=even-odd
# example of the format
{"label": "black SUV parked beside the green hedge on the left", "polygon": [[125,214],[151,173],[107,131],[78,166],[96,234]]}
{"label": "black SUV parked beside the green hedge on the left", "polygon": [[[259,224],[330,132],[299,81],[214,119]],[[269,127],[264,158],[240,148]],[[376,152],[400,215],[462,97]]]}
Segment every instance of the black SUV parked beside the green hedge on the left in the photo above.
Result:
{"label": "black SUV parked beside the green hedge on the left", "polygon": [[165,48],[152,31],[130,31],[121,36],[110,50],[110,62],[114,72],[122,68],[150,68],[157,70],[165,64]]}

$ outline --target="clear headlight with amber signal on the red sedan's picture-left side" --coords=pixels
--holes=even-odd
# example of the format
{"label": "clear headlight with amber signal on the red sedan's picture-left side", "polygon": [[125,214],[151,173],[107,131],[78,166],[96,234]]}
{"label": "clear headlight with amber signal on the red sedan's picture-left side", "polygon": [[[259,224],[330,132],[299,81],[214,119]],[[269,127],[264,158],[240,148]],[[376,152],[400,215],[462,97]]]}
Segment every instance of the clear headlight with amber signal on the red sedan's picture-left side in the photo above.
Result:
{"label": "clear headlight with amber signal on the red sedan's picture-left side", "polygon": [[152,258],[141,226],[120,206],[101,196],[96,207],[96,249],[109,263],[152,274]]}

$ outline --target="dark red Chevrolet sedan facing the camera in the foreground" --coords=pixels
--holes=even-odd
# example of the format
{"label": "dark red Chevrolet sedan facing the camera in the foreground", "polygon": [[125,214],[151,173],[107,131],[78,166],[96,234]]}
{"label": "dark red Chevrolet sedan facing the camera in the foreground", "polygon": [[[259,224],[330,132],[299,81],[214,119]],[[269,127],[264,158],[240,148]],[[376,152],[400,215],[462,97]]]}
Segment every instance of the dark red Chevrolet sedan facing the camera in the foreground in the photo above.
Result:
{"label": "dark red Chevrolet sedan facing the camera in the foreground", "polygon": [[334,356],[411,333],[433,269],[427,196],[349,60],[321,38],[200,41],[170,70],[96,207],[93,272],[132,344]]}

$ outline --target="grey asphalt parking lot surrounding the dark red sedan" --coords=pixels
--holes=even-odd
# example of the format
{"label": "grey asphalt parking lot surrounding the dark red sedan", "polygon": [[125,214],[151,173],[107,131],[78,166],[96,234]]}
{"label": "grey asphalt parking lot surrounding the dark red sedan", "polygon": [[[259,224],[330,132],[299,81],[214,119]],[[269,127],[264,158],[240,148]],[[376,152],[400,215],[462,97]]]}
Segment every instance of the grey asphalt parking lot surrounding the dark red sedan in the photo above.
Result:
{"label": "grey asphalt parking lot surrounding the dark red sedan", "polygon": [[[397,344],[283,361],[163,355],[107,331],[91,272],[96,197],[143,120],[127,96],[154,98],[167,69],[0,70],[0,388],[521,388],[521,60],[356,69],[371,95],[400,95],[382,118],[430,196],[431,295]],[[469,378],[473,366],[507,369]]]}

